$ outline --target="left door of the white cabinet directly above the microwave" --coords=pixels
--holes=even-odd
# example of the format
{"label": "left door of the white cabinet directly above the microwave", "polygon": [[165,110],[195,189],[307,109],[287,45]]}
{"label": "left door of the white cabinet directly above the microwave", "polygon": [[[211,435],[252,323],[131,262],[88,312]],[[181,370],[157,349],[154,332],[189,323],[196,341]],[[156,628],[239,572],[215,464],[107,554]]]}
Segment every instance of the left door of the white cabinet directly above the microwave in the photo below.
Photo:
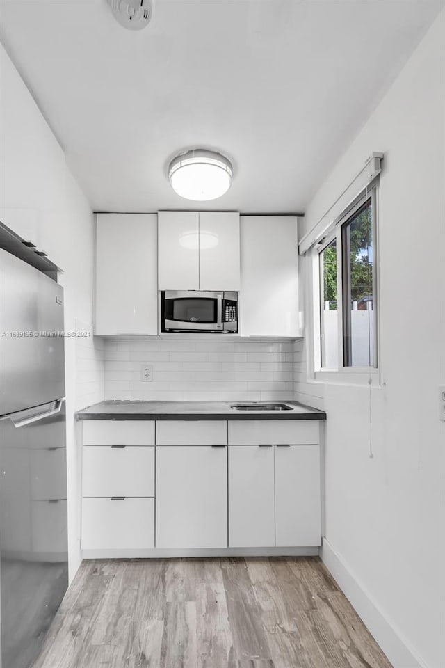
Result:
{"label": "left door of the white cabinet directly above the microwave", "polygon": [[195,211],[160,211],[159,289],[199,290],[199,255],[199,214]]}

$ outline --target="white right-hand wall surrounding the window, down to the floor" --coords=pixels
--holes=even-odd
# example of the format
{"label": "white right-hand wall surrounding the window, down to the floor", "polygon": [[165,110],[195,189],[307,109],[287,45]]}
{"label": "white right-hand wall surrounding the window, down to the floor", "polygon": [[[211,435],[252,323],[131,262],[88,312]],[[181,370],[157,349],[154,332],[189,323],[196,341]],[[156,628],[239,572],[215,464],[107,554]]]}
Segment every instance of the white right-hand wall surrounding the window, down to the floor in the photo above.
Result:
{"label": "white right-hand wall surrounding the window, down to the floor", "polygon": [[327,411],[325,559],[397,668],[445,665],[444,44],[442,12],[316,193],[305,223],[312,228],[371,152],[385,152],[382,388],[307,383],[302,350],[296,396],[324,395]]}

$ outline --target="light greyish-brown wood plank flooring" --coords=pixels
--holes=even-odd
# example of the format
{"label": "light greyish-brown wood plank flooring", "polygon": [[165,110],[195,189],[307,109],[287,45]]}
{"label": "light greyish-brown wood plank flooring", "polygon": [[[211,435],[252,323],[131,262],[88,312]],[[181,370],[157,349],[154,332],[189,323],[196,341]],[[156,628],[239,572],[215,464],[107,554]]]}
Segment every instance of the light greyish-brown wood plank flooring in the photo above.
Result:
{"label": "light greyish-brown wood plank flooring", "polygon": [[83,562],[33,668],[391,668],[316,557]]}

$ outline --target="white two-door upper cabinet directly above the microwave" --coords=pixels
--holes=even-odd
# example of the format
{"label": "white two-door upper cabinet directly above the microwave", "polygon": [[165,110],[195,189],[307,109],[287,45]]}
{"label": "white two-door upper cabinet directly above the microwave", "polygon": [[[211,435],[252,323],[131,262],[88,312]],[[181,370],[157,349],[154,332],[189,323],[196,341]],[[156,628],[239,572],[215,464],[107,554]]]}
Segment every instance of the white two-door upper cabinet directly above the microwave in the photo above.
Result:
{"label": "white two-door upper cabinet directly above the microwave", "polygon": [[240,289],[239,214],[160,211],[160,290]]}

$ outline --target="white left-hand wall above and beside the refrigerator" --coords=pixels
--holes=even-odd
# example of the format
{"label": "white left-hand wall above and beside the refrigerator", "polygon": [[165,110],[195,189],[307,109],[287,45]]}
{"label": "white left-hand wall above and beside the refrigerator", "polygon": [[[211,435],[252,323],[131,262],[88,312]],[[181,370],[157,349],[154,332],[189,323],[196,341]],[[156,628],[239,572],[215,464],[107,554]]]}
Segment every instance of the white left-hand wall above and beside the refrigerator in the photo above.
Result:
{"label": "white left-hand wall above and beside the refrigerator", "polygon": [[[91,327],[93,218],[90,205],[65,164],[63,150],[1,46],[0,76],[0,219],[25,239],[34,241],[63,269],[60,283],[65,291],[65,330],[76,331],[76,320]],[[74,410],[82,407],[82,401],[76,400],[76,350],[79,353],[76,340],[65,339],[71,577],[81,559]],[[95,369],[95,372],[98,374],[97,382],[93,381],[95,399],[100,400],[101,371]],[[91,392],[86,394],[91,395]]]}

